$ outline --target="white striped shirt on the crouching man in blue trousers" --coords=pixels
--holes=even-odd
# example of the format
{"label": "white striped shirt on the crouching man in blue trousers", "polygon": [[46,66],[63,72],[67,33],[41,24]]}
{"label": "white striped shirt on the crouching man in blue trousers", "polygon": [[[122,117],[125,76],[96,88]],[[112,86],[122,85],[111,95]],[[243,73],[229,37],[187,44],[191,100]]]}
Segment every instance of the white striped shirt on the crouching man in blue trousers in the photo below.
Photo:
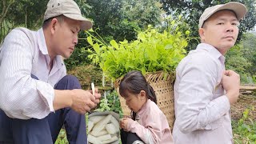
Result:
{"label": "white striped shirt on the crouching man in blue trousers", "polygon": [[45,118],[54,111],[54,85],[66,75],[62,58],[50,70],[42,29],[14,29],[0,50],[0,109],[10,118]]}

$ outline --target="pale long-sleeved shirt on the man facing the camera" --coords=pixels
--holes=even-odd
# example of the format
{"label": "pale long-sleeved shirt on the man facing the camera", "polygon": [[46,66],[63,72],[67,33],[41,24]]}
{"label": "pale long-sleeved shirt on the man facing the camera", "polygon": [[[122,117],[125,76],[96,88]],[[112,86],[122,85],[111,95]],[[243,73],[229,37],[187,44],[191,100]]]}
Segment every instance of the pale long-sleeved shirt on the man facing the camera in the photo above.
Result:
{"label": "pale long-sleeved shirt on the man facing the camera", "polygon": [[206,43],[178,64],[174,83],[175,144],[232,143],[230,102],[222,87],[225,58]]}

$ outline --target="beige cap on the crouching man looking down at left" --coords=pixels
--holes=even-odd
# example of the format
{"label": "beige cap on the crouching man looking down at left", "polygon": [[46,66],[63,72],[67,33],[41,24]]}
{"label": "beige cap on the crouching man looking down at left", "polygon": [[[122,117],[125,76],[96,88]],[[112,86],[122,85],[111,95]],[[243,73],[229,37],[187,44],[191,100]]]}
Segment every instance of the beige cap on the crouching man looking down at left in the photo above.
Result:
{"label": "beige cap on the crouching man looking down at left", "polygon": [[62,14],[67,18],[81,21],[81,30],[89,30],[93,26],[89,19],[82,16],[81,10],[74,0],[50,0],[43,20]]}

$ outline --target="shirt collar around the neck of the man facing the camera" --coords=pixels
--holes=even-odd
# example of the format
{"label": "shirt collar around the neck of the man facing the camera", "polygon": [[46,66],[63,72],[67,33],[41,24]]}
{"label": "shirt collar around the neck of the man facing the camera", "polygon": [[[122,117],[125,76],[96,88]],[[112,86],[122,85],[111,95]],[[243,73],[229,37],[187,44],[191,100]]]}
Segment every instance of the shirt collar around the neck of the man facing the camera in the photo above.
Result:
{"label": "shirt collar around the neck of the man facing the camera", "polygon": [[197,46],[197,50],[206,50],[210,53],[214,58],[219,59],[222,63],[225,62],[225,57],[214,47],[207,43],[200,43]]}

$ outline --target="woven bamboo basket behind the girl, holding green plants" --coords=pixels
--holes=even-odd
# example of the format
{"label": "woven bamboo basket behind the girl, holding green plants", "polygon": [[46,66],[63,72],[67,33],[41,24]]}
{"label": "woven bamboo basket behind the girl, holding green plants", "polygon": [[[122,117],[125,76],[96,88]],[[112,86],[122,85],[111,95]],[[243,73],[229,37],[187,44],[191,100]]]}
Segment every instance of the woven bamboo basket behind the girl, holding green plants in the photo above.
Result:
{"label": "woven bamboo basket behind the girl, holding green plants", "polygon": [[[167,121],[170,126],[170,130],[174,126],[174,74],[166,74],[163,71],[158,71],[155,73],[149,73],[145,75],[146,81],[149,82],[150,86],[153,87],[154,92],[157,96],[158,107],[162,110],[163,114],[166,115]],[[118,78],[114,87],[118,92],[118,97],[122,106],[122,111],[124,115],[130,115],[130,109],[126,106],[126,100],[119,94],[119,83],[122,78]]]}

